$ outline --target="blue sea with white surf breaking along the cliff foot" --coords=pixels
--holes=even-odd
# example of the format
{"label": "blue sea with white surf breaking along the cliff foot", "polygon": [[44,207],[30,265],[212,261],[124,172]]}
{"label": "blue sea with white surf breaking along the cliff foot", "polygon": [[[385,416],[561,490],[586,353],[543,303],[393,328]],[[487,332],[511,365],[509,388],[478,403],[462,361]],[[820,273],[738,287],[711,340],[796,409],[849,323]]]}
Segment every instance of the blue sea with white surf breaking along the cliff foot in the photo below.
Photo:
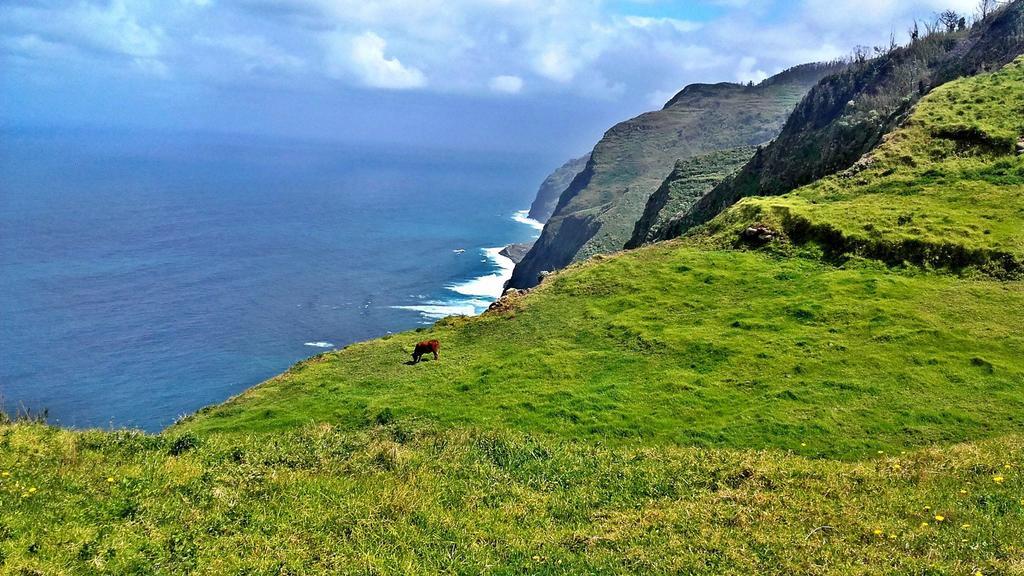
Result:
{"label": "blue sea with white surf breaking along the cliff foot", "polygon": [[[478,313],[546,160],[207,134],[0,138],[0,399],[158,430],[324,349]],[[396,362],[404,361],[396,358]]]}

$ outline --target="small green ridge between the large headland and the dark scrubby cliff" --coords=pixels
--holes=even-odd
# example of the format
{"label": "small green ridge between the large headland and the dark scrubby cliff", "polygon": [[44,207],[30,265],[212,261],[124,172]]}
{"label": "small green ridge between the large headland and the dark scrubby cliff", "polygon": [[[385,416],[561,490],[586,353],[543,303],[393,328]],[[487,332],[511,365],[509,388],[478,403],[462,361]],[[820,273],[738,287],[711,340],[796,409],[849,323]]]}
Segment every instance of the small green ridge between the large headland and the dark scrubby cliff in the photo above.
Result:
{"label": "small green ridge between the large headland and the dark scrubby cliff", "polygon": [[669,177],[647,199],[643,215],[637,220],[626,247],[637,248],[657,238],[672,216],[696,204],[750,161],[756,150],[753,147],[722,150],[676,162]]}

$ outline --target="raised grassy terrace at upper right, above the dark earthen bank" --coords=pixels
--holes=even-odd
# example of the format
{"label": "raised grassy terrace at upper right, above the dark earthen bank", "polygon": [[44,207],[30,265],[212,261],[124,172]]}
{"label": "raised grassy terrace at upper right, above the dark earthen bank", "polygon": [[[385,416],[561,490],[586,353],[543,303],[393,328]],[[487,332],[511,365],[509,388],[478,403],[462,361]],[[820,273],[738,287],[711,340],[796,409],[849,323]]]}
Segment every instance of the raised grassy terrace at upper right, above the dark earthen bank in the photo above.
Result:
{"label": "raised grassy terrace at upper right, above the dark earthen bank", "polygon": [[[915,263],[1024,265],[1024,58],[948,83],[853,169],[733,210]],[[726,221],[729,216],[720,221]],[[716,223],[711,224],[712,229]]]}

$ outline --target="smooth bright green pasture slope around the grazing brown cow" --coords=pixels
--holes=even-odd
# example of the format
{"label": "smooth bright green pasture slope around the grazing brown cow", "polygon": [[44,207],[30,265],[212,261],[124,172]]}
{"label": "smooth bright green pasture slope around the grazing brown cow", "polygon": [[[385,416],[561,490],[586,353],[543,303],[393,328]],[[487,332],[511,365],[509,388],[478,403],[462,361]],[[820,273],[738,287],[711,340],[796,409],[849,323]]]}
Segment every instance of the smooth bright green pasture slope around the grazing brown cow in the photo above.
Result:
{"label": "smooth bright green pasture slope around the grazing brown cow", "polygon": [[[1018,282],[663,245],[575,266],[508,314],[317,357],[180,427],[385,413],[856,457],[1024,429],[1022,317]],[[425,338],[440,361],[406,365]]]}

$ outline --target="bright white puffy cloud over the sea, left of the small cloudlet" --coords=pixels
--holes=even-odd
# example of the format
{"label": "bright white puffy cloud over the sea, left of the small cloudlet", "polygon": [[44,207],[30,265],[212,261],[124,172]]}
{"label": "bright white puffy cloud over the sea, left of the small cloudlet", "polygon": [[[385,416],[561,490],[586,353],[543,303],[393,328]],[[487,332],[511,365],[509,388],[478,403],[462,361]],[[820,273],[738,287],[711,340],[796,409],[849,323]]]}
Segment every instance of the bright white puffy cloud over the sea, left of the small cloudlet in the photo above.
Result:
{"label": "bright white puffy cloud over the sea, left of the small cloudlet", "polygon": [[404,90],[426,86],[427,77],[419,69],[407,67],[396,57],[387,57],[387,42],[374,32],[355,37],[332,35],[328,39],[328,72],[335,77],[354,74],[366,86]]}

